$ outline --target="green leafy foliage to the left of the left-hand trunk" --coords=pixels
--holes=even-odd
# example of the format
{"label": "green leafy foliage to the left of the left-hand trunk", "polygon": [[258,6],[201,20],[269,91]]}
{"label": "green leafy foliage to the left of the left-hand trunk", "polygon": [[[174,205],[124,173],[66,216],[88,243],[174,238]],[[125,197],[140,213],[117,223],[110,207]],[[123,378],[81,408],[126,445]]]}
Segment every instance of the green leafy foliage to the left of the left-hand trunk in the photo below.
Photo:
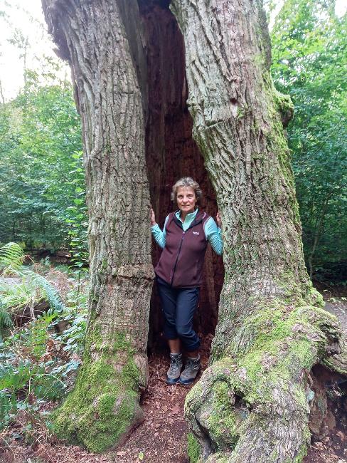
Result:
{"label": "green leafy foliage to the left of the left-hand trunk", "polygon": [[82,141],[72,85],[40,86],[28,71],[23,92],[0,105],[0,150],[0,242],[55,250],[77,236],[76,254],[85,253]]}

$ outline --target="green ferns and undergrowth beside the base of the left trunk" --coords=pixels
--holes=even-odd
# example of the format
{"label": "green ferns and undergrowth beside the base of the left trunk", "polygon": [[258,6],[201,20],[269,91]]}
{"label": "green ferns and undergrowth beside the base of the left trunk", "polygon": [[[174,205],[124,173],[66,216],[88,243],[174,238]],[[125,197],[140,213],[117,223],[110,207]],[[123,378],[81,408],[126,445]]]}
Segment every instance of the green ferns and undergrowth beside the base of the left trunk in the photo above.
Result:
{"label": "green ferns and undergrowth beside the base of the left trunk", "polygon": [[[12,271],[1,275],[0,441],[6,444],[6,436],[28,445],[38,430],[49,434],[50,412],[75,382],[87,323],[87,279],[85,272],[67,267],[43,263],[23,269],[23,260],[15,262]],[[25,278],[16,288],[6,286],[20,273]],[[53,295],[50,301],[45,288]],[[36,295],[34,303],[44,299],[50,308],[16,326],[11,307],[16,291]]]}

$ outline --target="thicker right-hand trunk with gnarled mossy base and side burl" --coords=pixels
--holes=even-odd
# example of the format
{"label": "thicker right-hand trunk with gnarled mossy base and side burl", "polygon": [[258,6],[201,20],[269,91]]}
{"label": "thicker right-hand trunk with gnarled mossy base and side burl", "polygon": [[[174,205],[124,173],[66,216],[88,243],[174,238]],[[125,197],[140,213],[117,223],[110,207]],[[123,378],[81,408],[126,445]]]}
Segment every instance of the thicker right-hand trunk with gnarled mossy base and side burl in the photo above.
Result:
{"label": "thicker right-hand trunk with gnarled mossy base and side burl", "polygon": [[191,460],[301,462],[311,368],[346,372],[336,318],[307,276],[289,150],[292,105],[269,77],[261,1],[172,0],[188,106],[223,217],[225,280],[210,367],[189,392]]}

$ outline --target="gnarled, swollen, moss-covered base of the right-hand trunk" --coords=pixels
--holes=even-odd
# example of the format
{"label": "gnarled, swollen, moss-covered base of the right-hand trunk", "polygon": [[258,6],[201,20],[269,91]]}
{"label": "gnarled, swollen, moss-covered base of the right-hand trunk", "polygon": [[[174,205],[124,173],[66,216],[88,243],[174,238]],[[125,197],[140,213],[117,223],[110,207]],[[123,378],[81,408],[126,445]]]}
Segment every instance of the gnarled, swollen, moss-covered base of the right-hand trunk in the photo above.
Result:
{"label": "gnarled, swollen, moss-covered base of the right-hand trunk", "polygon": [[279,446],[289,438],[281,441],[279,435],[295,422],[291,438],[297,451],[291,461],[301,462],[310,439],[305,377],[332,345],[338,350],[340,341],[336,318],[321,308],[259,301],[186,397],[185,413],[202,461],[241,462],[237,449],[245,449],[248,439],[255,454],[264,452],[260,447],[267,442],[269,454],[258,453],[260,462],[277,462]]}

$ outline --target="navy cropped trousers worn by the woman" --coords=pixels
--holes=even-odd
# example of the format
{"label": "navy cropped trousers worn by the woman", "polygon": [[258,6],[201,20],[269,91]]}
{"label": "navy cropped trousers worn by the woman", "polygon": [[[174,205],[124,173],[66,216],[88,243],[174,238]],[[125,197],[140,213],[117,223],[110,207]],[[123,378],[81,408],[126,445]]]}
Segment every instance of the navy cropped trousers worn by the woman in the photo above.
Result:
{"label": "navy cropped trousers worn by the woman", "polygon": [[193,330],[200,288],[172,288],[159,276],[156,276],[156,283],[164,312],[166,338],[180,338],[187,352],[193,352],[200,347],[200,339]]}

